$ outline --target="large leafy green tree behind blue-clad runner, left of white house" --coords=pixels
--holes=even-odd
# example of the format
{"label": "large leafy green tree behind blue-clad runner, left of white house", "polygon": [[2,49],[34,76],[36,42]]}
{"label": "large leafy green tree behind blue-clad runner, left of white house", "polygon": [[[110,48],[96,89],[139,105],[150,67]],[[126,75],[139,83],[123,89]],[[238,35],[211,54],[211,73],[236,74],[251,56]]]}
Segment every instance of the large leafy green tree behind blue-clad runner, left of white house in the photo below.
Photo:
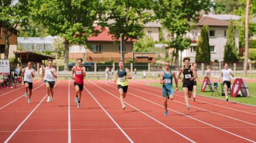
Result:
{"label": "large leafy green tree behind blue-clad runner, left of white house", "polygon": [[[158,0],[155,1],[154,11],[164,28],[176,39],[176,37],[182,37],[195,26],[199,20],[200,11],[208,11],[212,6],[213,3],[210,0]],[[175,65],[178,65],[179,51],[182,49],[179,49],[177,44],[174,45],[176,50]]]}

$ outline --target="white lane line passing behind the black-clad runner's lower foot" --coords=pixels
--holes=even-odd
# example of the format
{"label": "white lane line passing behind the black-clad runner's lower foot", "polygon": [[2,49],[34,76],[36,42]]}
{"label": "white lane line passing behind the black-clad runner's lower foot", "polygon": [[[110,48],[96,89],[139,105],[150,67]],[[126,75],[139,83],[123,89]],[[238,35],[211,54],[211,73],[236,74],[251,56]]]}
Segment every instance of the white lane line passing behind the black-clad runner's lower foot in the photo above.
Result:
{"label": "white lane line passing behind the black-clad runner's lower foot", "polygon": [[[150,93],[150,92],[146,92],[146,91],[143,91],[143,90],[135,89],[135,88],[133,88],[133,87],[129,87],[129,88],[134,89],[134,90],[137,90],[137,91],[144,92],[144,93],[146,93],[146,94],[151,94],[151,95],[154,95],[154,96],[158,96],[159,98],[162,98],[162,96],[159,96],[159,95],[156,95],[156,94],[152,94],[152,93]],[[179,101],[176,101],[176,100],[173,100],[173,101],[174,101],[174,102],[177,102],[177,103],[180,103],[180,104],[185,104],[185,103],[182,103],[182,102],[179,102]],[[190,106],[191,106],[191,105],[190,105]],[[221,113],[212,112],[212,111],[205,110],[205,109],[203,109],[203,108],[196,107],[196,106],[191,106],[191,107],[194,107],[194,108],[197,108],[197,109],[200,109],[200,110],[203,110],[203,111],[207,111],[207,112],[210,112],[210,113],[214,113],[214,114],[217,114],[217,115],[221,115],[221,116],[224,116],[224,117],[228,117],[228,118],[230,118],[230,119],[234,119],[234,120],[237,120],[237,121],[241,121],[241,122],[243,122],[243,123],[247,123],[247,124],[256,126],[256,124],[249,123],[249,122],[247,122],[247,121],[243,121],[243,120],[240,120],[240,119],[236,119],[236,118],[234,118],[234,117],[230,117],[230,116],[227,116],[227,115],[223,115],[223,114],[221,114]]]}

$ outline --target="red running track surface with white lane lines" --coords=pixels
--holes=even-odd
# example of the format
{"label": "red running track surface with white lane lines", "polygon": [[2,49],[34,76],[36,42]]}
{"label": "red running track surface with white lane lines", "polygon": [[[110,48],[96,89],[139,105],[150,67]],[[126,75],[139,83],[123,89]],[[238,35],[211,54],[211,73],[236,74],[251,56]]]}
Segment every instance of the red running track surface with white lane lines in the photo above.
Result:
{"label": "red running track surface with white lane lines", "polygon": [[164,116],[162,89],[141,81],[130,82],[126,110],[113,82],[86,81],[81,108],[74,102],[72,81],[56,81],[49,103],[43,83],[33,86],[31,103],[23,87],[1,91],[6,94],[0,96],[0,142],[256,141],[256,108],[251,106],[197,96],[188,111],[183,93],[175,92]]}

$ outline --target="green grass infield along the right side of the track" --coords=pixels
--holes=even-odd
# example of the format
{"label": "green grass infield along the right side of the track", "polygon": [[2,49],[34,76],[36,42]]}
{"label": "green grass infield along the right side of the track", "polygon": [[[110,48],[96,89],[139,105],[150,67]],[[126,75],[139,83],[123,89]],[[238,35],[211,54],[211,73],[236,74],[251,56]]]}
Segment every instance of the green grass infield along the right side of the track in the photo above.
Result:
{"label": "green grass infield along the right side of the track", "polygon": [[[250,92],[250,97],[249,98],[245,98],[245,97],[236,97],[233,98],[229,95],[229,100],[230,101],[234,101],[234,102],[240,102],[240,103],[245,103],[245,104],[251,104],[256,106],[256,88],[255,88],[255,82],[246,82],[247,86],[249,87],[249,92]],[[151,85],[151,86],[157,86],[157,87],[162,87],[162,85],[160,83],[147,83],[147,85]],[[175,83],[173,83],[173,86],[175,88]],[[178,84],[179,86],[179,91],[182,91],[182,83],[179,82]],[[205,96],[211,96],[212,92],[210,91],[209,87],[207,87],[205,89],[205,92],[201,92],[201,86],[202,86],[202,82],[197,82],[197,90],[196,90],[196,94],[197,95],[205,95]],[[221,95],[221,87],[220,85],[218,86],[218,92]],[[213,93],[214,98],[220,98],[220,99],[224,99],[225,100],[225,96],[218,96],[217,92],[216,92],[216,96],[214,95],[215,93]]]}

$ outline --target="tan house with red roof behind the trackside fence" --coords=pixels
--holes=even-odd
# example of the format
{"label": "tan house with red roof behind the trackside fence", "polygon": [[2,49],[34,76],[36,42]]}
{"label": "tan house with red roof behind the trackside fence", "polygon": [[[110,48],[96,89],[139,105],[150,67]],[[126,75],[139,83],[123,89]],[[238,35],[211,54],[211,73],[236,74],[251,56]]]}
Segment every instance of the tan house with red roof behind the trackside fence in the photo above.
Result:
{"label": "tan house with red roof behind the trackside fence", "polygon": [[[109,34],[109,28],[104,30],[101,27],[96,27],[100,30],[96,36],[91,36],[87,39],[91,48],[84,48],[84,45],[72,44],[69,47],[69,58],[76,60],[82,58],[86,62],[118,62],[121,59],[120,53],[120,39],[115,40],[114,35]],[[128,39],[125,47],[125,61],[133,60],[138,62],[151,62],[155,61],[155,54],[152,53],[139,53],[134,57],[133,44],[137,39]],[[139,59],[137,59],[139,58]]]}

